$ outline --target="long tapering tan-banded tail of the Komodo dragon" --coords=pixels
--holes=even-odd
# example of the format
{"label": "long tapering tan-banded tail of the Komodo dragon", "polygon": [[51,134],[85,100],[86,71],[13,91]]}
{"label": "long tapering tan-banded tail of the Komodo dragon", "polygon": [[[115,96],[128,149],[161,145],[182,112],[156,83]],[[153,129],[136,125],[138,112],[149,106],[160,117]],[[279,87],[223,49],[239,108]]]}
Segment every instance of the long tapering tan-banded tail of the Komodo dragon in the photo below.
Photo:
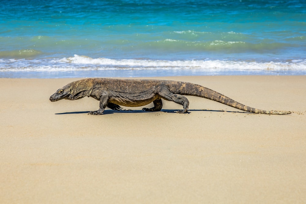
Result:
{"label": "long tapering tan-banded tail of the Komodo dragon", "polygon": [[181,95],[190,95],[190,96],[207,98],[207,99],[219,102],[219,103],[223,103],[227,106],[231,106],[231,107],[234,107],[240,110],[244,110],[247,112],[251,112],[251,113],[273,114],[273,115],[285,115],[285,114],[292,113],[291,111],[274,111],[274,110],[267,111],[267,110],[260,110],[260,109],[252,108],[249,106],[245,106],[223,94],[220,94],[209,88],[200,86],[198,84],[183,82],[180,88],[178,88],[178,90],[180,90],[179,91],[180,93],[178,94],[181,94]]}

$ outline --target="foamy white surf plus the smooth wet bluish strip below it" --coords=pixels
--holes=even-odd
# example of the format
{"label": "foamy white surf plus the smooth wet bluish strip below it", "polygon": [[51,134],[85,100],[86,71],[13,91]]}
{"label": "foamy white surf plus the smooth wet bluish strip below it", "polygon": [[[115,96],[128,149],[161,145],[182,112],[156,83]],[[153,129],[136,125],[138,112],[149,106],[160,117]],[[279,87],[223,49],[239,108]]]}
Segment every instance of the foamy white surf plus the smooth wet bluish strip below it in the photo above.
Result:
{"label": "foamy white surf plus the smooth wet bluish strip below it", "polygon": [[74,57],[0,59],[0,78],[306,76],[304,59],[111,59]]}

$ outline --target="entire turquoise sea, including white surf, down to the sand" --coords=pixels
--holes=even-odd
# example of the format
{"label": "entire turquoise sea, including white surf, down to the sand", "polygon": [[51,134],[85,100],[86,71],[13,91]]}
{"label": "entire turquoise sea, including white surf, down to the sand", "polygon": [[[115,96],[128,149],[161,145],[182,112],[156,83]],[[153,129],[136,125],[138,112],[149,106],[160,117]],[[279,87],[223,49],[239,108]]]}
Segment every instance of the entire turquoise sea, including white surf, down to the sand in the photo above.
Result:
{"label": "entire turquoise sea, including white surf, down to the sand", "polygon": [[306,1],[0,3],[0,77],[306,75]]}

